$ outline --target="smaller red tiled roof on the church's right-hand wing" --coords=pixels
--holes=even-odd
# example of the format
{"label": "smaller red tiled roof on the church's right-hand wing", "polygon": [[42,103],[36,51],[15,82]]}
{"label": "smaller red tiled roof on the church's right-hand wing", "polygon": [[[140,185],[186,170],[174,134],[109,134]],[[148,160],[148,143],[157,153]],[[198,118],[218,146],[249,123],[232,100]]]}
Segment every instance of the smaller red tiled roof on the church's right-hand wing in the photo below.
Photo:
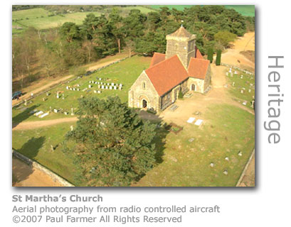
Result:
{"label": "smaller red tiled roof on the church's right-hand wing", "polygon": [[209,63],[209,60],[191,57],[188,67],[189,77],[205,79]]}

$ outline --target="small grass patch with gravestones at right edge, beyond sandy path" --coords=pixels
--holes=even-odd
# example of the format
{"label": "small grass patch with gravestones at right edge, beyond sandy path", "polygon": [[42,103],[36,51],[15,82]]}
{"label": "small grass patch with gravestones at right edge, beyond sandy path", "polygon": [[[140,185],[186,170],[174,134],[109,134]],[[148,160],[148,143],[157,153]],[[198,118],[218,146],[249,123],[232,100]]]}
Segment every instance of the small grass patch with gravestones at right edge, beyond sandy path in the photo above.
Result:
{"label": "small grass patch with gravestones at right edge, beyond sandy path", "polygon": [[[255,77],[253,75],[240,72],[239,70],[236,71],[238,74],[233,74],[233,77],[231,77],[231,74],[228,73],[228,91],[233,96],[233,99],[236,99],[236,101],[239,101],[242,105],[243,101],[246,101],[246,106],[253,109],[251,107],[251,101],[253,100],[253,96],[255,96]],[[235,70],[232,70],[232,72],[235,72]],[[243,75],[243,79],[240,79],[241,75]],[[233,82],[235,83],[234,86]],[[242,90],[243,93],[240,93]]]}

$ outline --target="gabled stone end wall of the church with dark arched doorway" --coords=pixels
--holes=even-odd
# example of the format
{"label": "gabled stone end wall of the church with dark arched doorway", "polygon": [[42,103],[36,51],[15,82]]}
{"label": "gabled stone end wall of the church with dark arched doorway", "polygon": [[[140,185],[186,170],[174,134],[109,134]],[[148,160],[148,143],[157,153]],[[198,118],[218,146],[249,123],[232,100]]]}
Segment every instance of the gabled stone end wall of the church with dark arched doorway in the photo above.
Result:
{"label": "gabled stone end wall of the church with dark arched doorway", "polygon": [[145,72],[139,75],[128,92],[128,106],[142,108],[142,100],[147,101],[147,109],[159,109],[159,95]]}

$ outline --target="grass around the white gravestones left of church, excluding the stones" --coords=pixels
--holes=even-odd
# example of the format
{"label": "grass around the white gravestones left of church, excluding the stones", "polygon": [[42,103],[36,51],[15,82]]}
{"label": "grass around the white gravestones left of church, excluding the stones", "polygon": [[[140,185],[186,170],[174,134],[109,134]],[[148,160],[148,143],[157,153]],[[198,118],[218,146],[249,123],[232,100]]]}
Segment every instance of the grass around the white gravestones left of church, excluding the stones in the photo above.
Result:
{"label": "grass around the white gravestones left of church, excluding the stones", "polygon": [[[149,67],[151,58],[150,57],[139,57],[134,56],[131,58],[127,58],[122,62],[119,62],[114,65],[110,65],[103,70],[95,72],[88,77],[83,77],[81,79],[77,79],[73,82],[66,83],[51,90],[51,94],[46,96],[46,94],[42,94],[41,96],[37,96],[32,99],[32,103],[28,103],[27,106],[21,104],[20,106],[14,108],[12,110],[12,121],[14,123],[19,123],[21,121],[45,121],[54,118],[63,118],[70,117],[70,115],[65,116],[65,114],[55,114],[51,113],[44,118],[38,118],[30,114],[31,111],[37,109],[38,111],[49,111],[50,106],[52,109],[63,109],[63,111],[70,111],[71,108],[75,109],[75,112],[78,111],[78,99],[81,95],[83,96],[98,96],[101,99],[107,96],[120,96],[122,101],[127,101],[129,88],[132,86],[134,81],[139,77],[139,74],[142,70],[147,69]],[[92,84],[92,88],[89,89],[89,81],[94,80],[97,81],[96,77],[108,78],[107,81],[102,80],[102,82],[106,83],[115,83],[115,84],[123,84],[122,90],[105,90],[98,89],[97,84]],[[80,92],[67,90],[65,87],[74,86],[76,84],[80,84]],[[77,88],[77,87],[76,87]],[[85,92],[82,92],[83,89],[88,88]],[[89,91],[90,90],[90,91]],[[101,90],[101,94],[95,94],[94,90]],[[63,92],[65,99],[62,99],[60,95],[60,99],[56,98],[57,92]],[[89,91],[89,92],[88,92]],[[43,101],[43,98],[46,98],[46,101]]]}

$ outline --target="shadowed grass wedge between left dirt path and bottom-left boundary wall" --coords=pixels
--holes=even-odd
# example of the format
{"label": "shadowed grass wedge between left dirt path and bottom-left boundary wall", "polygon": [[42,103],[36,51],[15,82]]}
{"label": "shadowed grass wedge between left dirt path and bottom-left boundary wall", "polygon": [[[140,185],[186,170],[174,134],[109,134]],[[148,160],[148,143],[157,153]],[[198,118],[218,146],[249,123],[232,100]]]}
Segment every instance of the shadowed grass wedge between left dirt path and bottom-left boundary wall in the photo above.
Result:
{"label": "shadowed grass wedge between left dirt path and bottom-left boundary wall", "polygon": [[[63,154],[60,144],[63,142],[65,133],[70,131],[71,125],[75,126],[75,123],[12,131],[12,148],[74,183],[73,160]],[[51,151],[51,145],[56,147],[54,151]]]}

